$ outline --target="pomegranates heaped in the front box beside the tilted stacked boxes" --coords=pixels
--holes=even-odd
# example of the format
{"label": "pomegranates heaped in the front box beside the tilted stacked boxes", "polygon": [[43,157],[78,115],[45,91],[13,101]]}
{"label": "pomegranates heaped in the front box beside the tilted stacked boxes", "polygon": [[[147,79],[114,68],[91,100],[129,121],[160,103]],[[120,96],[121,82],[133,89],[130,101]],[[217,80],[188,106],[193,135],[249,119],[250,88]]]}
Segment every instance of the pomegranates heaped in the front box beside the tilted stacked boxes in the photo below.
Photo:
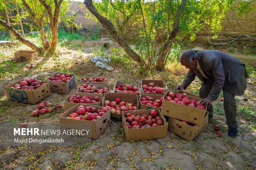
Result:
{"label": "pomegranates heaped in the front box beside the tilted stacked boxes", "polygon": [[164,124],[161,117],[158,116],[158,112],[156,110],[151,110],[150,114],[142,114],[135,115],[126,113],[125,116],[126,126],[130,129],[138,129],[138,128],[151,128],[157,127]]}

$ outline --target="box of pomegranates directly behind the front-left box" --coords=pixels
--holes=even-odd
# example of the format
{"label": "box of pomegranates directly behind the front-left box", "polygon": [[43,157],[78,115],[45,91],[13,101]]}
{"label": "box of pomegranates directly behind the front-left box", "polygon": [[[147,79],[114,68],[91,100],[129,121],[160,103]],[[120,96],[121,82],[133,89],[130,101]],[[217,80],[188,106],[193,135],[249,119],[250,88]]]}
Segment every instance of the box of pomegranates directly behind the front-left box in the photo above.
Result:
{"label": "box of pomegranates directly behind the front-left box", "polygon": [[78,103],[102,106],[102,94],[100,93],[70,93],[64,100],[64,111],[77,105]]}

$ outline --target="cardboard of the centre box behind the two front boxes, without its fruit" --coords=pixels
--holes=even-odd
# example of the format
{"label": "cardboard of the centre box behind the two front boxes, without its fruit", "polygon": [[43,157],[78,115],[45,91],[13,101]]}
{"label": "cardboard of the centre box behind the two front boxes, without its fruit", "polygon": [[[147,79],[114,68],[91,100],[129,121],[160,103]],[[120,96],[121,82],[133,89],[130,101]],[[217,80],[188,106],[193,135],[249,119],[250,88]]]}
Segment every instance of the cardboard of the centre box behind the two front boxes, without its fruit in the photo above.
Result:
{"label": "cardboard of the centre box behind the two front boxes, without its fruit", "polygon": [[[114,101],[117,97],[120,98],[121,101],[135,102],[135,106],[138,107],[138,97],[134,93],[106,93],[102,98],[102,105],[104,106],[105,100]],[[121,120],[122,114],[111,113],[111,119]]]}

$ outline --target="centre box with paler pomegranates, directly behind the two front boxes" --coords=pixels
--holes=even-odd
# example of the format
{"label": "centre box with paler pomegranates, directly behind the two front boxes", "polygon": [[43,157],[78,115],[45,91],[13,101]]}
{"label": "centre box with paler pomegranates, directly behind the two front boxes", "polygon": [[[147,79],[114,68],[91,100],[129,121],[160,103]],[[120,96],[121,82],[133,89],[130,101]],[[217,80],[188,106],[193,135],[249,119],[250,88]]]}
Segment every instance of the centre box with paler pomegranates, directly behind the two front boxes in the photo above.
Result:
{"label": "centre box with paler pomegranates, directly behind the two front boxes", "polygon": [[138,109],[138,98],[135,93],[106,93],[102,105],[111,109],[111,119],[121,120],[123,111]]}

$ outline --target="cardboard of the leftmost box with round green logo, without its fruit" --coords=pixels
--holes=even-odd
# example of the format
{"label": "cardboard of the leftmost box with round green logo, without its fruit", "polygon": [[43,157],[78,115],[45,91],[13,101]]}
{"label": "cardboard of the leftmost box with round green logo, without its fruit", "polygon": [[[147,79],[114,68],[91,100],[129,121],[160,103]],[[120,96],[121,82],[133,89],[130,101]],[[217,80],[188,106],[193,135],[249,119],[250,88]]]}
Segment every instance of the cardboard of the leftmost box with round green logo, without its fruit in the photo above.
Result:
{"label": "cardboard of the leftmost box with round green logo, without its fruit", "polygon": [[19,84],[21,81],[23,80],[19,80],[5,86],[5,92],[8,100],[35,104],[51,94],[49,82],[44,81],[43,83],[46,83],[45,85],[32,91],[11,88],[14,87],[15,84]]}

